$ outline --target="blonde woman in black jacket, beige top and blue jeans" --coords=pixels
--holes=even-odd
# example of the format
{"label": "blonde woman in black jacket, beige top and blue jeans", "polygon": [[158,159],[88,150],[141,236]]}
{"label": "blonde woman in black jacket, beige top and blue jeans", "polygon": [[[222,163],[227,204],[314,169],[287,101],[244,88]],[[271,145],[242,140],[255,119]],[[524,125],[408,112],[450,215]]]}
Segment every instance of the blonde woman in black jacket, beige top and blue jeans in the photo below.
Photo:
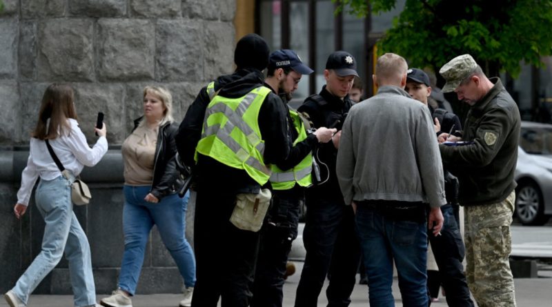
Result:
{"label": "blonde woman in black jacket, beige top and blue jeans", "polygon": [[124,160],[123,231],[125,250],[119,287],[102,306],[130,307],[135,295],[150,230],[157,225],[161,239],[184,278],[184,300],[190,306],[195,286],[195,257],[186,237],[184,215],[188,195],[177,195],[175,134],[172,97],[164,88],[144,88],[144,116],[122,146]]}

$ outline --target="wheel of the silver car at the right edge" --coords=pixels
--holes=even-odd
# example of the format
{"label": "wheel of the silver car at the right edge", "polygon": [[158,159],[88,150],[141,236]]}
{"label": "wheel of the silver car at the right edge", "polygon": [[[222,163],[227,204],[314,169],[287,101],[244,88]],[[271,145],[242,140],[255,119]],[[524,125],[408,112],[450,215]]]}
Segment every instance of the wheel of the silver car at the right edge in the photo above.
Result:
{"label": "wheel of the silver car at the right edge", "polygon": [[516,188],[515,212],[523,225],[543,225],[549,217],[544,215],[544,201],[540,188],[532,181],[522,181]]}

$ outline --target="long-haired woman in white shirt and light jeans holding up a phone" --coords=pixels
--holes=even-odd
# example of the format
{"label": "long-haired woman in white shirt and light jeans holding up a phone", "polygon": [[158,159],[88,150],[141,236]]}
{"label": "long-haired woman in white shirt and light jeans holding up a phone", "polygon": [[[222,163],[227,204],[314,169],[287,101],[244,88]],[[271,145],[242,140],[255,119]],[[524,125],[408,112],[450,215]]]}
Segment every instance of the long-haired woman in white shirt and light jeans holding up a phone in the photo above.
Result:
{"label": "long-haired woman in white shirt and light jeans holding up a phone", "polygon": [[[99,139],[93,148],[77,123],[73,90],[64,84],[51,84],[44,92],[36,128],[31,133],[27,166],[21,174],[17,192],[15,216],[19,219],[27,210],[34,183],[40,177],[35,192],[37,209],[46,227],[42,249],[17,284],[4,297],[11,307],[26,306],[29,296],[42,279],[55,268],[65,250],[75,306],[99,306],[92,277],[90,245],[72,210],[72,181],[84,166],[95,166],[106,154],[106,126],[95,129]],[[61,164],[69,171],[63,177],[46,147],[48,140]]]}

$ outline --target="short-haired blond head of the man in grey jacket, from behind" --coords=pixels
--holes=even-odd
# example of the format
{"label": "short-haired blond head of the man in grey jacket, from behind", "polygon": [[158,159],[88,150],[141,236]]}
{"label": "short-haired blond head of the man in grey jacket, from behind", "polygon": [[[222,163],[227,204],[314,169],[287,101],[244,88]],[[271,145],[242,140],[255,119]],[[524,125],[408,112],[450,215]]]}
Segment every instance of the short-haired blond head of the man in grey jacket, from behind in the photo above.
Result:
{"label": "short-haired blond head of the man in grey jacket, from behind", "polygon": [[402,78],[406,75],[408,64],[404,57],[395,53],[386,53],[377,58],[375,64],[375,76],[377,83],[400,85]]}

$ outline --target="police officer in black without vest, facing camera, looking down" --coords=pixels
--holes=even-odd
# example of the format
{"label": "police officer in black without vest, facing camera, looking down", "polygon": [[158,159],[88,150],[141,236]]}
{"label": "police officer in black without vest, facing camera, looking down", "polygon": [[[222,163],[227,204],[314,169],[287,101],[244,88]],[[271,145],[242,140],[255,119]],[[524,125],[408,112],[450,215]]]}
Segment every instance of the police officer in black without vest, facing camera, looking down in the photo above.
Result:
{"label": "police officer in black without vest, facing camera, looking down", "polygon": [[355,232],[353,208],[346,206],[335,175],[341,127],[351,99],[348,92],[358,76],[355,58],[345,51],[333,52],[326,61],[319,95],[308,97],[299,112],[306,112],[315,127],[337,128],[331,142],[319,144],[313,152],[314,186],[306,190],[306,224],[303,239],[305,264],[297,286],[295,306],[317,306],[331,262],[326,295],[328,306],[348,306],[355,286],[360,247]]}

